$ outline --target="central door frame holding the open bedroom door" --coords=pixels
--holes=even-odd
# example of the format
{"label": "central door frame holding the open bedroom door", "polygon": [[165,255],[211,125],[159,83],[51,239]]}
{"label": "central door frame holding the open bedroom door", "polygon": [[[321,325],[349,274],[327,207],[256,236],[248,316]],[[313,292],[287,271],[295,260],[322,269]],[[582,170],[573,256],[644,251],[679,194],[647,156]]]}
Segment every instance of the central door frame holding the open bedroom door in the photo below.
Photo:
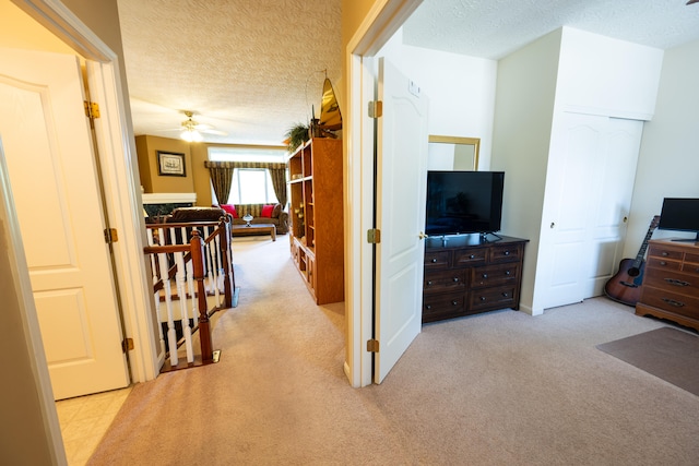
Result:
{"label": "central door frame holding the open bedroom door", "polygon": [[352,386],[371,384],[374,371],[367,342],[374,337],[374,263],[366,231],[374,227],[374,122],[367,105],[374,99],[374,60],[422,0],[376,1],[347,44],[348,121],[343,143],[345,158],[345,312],[347,348],[345,374]]}

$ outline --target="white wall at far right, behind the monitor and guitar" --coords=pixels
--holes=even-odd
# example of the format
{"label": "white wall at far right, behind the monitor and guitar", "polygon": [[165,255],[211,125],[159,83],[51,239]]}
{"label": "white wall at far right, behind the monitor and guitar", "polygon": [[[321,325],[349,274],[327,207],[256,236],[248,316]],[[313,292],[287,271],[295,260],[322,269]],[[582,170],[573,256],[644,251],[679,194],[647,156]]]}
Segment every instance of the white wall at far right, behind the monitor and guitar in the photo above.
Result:
{"label": "white wall at far right, behind the monitor and guitar", "polygon": [[[665,50],[653,119],[644,123],[624,248],[635,258],[663,198],[699,198],[699,40]],[[656,230],[653,238],[691,237]]]}

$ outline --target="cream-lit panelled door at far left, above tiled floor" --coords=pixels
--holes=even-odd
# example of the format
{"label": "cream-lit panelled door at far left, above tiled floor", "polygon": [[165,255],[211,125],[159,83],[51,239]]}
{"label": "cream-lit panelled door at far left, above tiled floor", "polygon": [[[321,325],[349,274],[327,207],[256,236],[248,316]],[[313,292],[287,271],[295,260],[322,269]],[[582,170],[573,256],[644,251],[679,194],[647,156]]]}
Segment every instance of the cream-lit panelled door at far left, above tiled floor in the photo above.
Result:
{"label": "cream-lit panelled door at far left, above tiled floor", "polygon": [[0,138],[54,396],[129,384],[76,57],[0,49]]}

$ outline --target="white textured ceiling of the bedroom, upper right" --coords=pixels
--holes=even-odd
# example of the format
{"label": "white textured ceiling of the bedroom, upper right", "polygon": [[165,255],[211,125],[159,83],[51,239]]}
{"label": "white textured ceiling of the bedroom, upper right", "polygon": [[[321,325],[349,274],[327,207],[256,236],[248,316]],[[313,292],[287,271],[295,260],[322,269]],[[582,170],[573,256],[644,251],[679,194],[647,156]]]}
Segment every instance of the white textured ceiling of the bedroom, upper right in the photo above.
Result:
{"label": "white textured ceiling of the bedroom, upper right", "polygon": [[571,26],[666,49],[699,39],[699,3],[687,0],[424,0],[405,44],[498,59]]}

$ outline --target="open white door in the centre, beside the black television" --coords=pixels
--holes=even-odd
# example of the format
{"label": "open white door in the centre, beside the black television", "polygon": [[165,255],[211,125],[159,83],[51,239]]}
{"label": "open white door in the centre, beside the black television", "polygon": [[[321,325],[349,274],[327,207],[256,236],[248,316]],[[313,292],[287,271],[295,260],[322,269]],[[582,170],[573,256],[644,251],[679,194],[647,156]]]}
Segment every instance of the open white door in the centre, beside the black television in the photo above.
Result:
{"label": "open white door in the centre, beside the black television", "polygon": [[427,97],[379,59],[374,382],[381,383],[422,327]]}

